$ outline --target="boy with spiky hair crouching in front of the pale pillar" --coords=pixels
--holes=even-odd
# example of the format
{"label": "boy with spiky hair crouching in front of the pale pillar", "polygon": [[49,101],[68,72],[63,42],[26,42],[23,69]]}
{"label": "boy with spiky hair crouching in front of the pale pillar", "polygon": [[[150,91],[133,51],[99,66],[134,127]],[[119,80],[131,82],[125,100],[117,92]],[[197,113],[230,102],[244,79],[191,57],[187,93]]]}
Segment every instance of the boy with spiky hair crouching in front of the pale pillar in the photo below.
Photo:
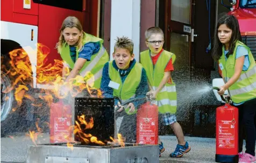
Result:
{"label": "boy with spiky hair crouching in front of the pale pillar", "polygon": [[[136,142],[136,113],[145,100],[130,102],[127,106],[122,103],[132,98],[144,98],[149,91],[145,69],[137,63],[133,54],[133,42],[123,36],[117,38],[113,61],[104,65],[101,90],[106,98],[115,98],[115,109],[123,116],[119,133],[125,137],[125,142]],[[125,110],[124,110],[125,109]]]}

